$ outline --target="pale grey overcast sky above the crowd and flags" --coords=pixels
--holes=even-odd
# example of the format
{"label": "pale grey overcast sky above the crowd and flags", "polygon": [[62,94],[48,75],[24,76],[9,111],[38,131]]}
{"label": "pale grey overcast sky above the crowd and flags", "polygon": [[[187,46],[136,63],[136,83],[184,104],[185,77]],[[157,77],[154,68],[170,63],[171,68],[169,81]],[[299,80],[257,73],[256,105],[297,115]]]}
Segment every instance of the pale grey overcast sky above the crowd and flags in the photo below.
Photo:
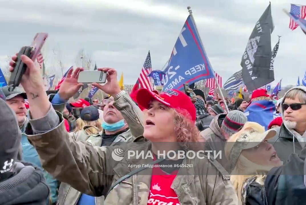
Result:
{"label": "pale grey overcast sky above the crowd and flags", "polygon": [[[282,35],[272,85],[281,78],[282,86],[296,84],[306,70],[306,37],[300,28],[288,28],[289,17],[282,11],[290,10],[290,3],[305,0],[271,1],[272,48],[277,35]],[[225,82],[241,69],[248,38],[268,4],[268,0],[2,0],[0,67],[6,67],[7,56],[29,45],[36,32],[48,32],[43,55],[49,74],[62,75],[59,53],[68,69],[84,49],[93,66],[96,62],[98,67],[116,68],[119,75],[123,71],[125,84],[134,84],[148,50],[153,69],[161,69],[169,59],[190,5],[211,65]]]}

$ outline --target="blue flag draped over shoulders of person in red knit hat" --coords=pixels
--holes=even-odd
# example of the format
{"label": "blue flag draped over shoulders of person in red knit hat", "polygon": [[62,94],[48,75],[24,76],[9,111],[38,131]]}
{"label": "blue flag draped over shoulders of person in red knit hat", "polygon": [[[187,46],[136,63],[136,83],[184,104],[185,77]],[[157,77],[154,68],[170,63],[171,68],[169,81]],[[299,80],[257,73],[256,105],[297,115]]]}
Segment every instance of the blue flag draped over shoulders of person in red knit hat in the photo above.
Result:
{"label": "blue flag draped over shoulders of person in red knit hat", "polygon": [[244,115],[247,116],[248,122],[256,122],[261,126],[265,127],[265,130],[268,130],[270,122],[281,116],[279,113],[276,113],[275,104],[272,101],[254,101],[248,108],[244,111]]}

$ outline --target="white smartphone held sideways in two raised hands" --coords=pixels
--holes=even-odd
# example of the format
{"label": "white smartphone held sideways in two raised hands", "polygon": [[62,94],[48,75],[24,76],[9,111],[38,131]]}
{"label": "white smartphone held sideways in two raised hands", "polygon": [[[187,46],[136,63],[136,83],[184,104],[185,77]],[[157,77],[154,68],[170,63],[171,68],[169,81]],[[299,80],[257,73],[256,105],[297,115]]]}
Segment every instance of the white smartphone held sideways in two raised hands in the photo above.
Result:
{"label": "white smartphone held sideways in two raised hands", "polygon": [[105,83],[106,82],[106,72],[102,71],[81,71],[79,73],[79,78],[77,82],[80,83]]}

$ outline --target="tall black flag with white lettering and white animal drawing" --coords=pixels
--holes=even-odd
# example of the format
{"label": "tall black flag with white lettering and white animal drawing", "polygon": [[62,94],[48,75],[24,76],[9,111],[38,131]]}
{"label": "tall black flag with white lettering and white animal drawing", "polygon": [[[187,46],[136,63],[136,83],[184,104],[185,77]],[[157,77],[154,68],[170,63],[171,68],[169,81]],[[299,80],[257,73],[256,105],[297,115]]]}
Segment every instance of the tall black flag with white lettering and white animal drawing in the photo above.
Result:
{"label": "tall black flag with white lettering and white animal drawing", "polygon": [[242,78],[249,91],[274,81],[274,70],[270,68],[273,29],[270,3],[257,21],[241,59]]}

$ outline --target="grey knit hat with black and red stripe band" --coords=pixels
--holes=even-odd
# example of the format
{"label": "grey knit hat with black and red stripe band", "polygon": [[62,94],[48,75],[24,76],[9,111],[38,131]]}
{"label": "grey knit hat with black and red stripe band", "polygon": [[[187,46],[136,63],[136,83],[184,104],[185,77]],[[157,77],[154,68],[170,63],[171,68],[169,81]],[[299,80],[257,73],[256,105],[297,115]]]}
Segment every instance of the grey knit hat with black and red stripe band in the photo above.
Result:
{"label": "grey knit hat with black and red stripe band", "polygon": [[221,130],[230,136],[238,132],[248,121],[243,112],[239,110],[230,111],[222,122]]}

